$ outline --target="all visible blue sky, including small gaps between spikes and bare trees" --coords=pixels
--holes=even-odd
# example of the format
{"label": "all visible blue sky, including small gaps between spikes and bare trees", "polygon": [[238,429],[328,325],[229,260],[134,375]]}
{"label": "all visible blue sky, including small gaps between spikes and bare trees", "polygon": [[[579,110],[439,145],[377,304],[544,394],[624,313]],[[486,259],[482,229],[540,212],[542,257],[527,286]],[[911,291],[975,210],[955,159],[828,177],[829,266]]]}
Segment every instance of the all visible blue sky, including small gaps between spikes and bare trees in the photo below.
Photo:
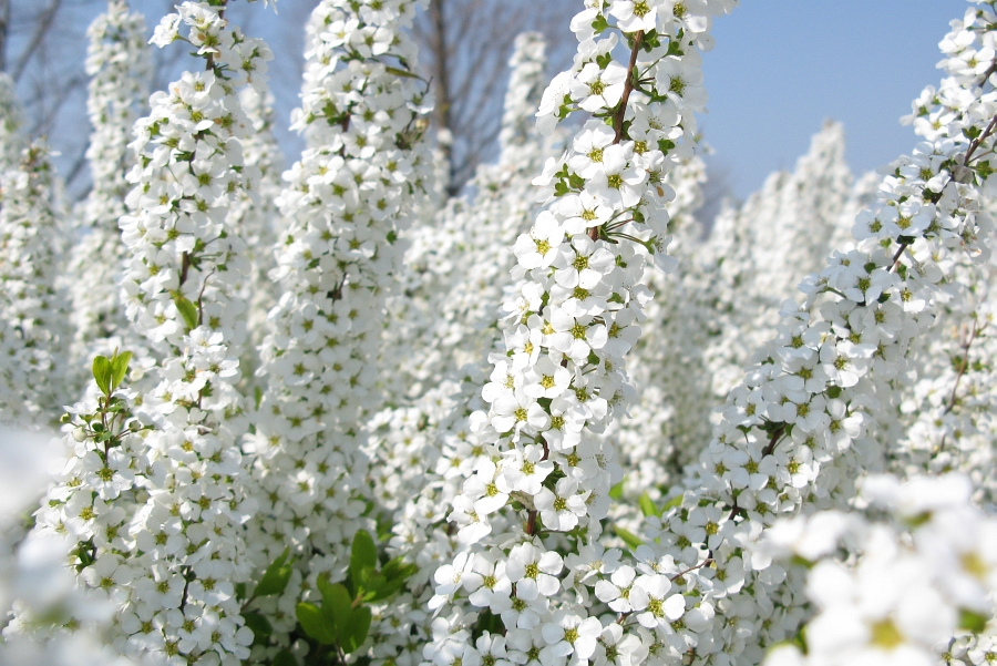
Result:
{"label": "all visible blue sky, including small gaps between spikes and bare trees", "polygon": [[[17,0],[16,13],[33,1]],[[543,1],[580,7],[580,0]],[[132,0],[146,12],[150,28],[172,3]],[[270,84],[278,98],[278,136],[288,164],[300,150],[286,119],[298,103],[301,24],[310,4],[280,0],[278,18],[244,2],[234,3],[230,12],[247,32],[261,33],[280,52]],[[58,27],[65,38],[58,62],[82,69],[83,30],[102,6],[101,0],[68,6]],[[846,156],[856,175],[908,153],[916,137],[898,119],[909,113],[911,101],[925,85],[937,84],[938,41],[948,21],[969,6],[966,0],[742,0],[731,16],[715,21],[717,47],[705,55],[710,103],[700,130],[716,150],[710,157],[713,173],[722,174],[732,193],[746,198],[772,171],[792,168],[829,117],[844,123]],[[510,28],[523,27],[496,27]],[[548,29],[566,40],[562,50],[574,52],[566,20]],[[24,35],[13,37],[16,42]],[[555,66],[565,66],[569,54],[554,60]],[[23,88],[21,93],[30,94],[29,86]],[[51,137],[65,155],[63,170],[85,139],[79,126],[82,105],[78,91],[62,109],[58,136]]]}

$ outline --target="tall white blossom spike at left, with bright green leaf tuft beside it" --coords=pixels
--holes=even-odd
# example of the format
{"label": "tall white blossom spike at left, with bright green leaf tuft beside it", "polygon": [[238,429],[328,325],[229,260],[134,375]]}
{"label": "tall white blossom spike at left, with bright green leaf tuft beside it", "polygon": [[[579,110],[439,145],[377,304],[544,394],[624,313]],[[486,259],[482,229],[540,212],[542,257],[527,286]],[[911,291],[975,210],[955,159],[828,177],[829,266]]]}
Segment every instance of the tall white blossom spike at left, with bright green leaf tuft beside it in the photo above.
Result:
{"label": "tall white blossom spike at left, with bright green leaf tuft beside it", "polygon": [[[246,306],[233,276],[245,258],[226,215],[256,178],[243,163],[239,139],[251,130],[238,90],[264,83],[270,52],[229,28],[220,8],[196,2],[178,6],[153,38],[175,40],[207,68],[153,94],[151,115],[136,123],[132,214],[121,219],[129,315],[164,356],[158,383],[144,393],[104,386],[71,410],[68,460],[37,530],[78,544],[71,564],[114,604],[110,642],[120,653],[238,664],[253,639],[235,586],[251,574],[244,524],[254,502],[234,387]],[[44,619],[19,622],[31,632]]]}

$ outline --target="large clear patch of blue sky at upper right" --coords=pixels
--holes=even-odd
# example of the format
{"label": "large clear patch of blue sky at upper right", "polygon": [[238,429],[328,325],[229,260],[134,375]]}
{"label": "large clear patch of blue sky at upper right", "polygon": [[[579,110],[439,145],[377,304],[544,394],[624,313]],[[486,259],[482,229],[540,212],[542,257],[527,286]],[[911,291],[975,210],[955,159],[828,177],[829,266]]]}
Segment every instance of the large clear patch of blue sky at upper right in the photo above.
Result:
{"label": "large clear patch of blue sky at upper right", "polygon": [[825,119],[844,123],[857,175],[909,153],[901,115],[942,72],[938,42],[965,0],[744,0],[705,55],[710,164],[738,197],[792,168]]}

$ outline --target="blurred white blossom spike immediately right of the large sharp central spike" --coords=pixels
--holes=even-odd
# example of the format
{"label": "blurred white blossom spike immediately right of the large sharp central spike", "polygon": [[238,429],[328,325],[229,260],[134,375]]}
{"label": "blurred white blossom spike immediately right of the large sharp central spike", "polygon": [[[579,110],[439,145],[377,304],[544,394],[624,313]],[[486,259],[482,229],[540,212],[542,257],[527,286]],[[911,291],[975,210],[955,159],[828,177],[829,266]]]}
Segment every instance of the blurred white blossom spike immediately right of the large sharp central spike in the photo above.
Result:
{"label": "blurred white blossom spike immediately right of the large sharp central spike", "polygon": [[706,165],[699,156],[680,163],[666,178],[676,193],[668,230],[679,274],[664,275],[651,267],[646,271],[655,299],[645,307],[647,319],[627,362],[638,397],[628,409],[629,418],[614,421],[604,436],[616,441],[625,470],[619,490],[627,501],[615,504],[614,526],[626,526],[619,511],[633,514],[641,494],[660,498],[709,438],[716,399],[702,352],[711,342],[717,314],[702,279],[702,226],[695,217],[705,181]]}

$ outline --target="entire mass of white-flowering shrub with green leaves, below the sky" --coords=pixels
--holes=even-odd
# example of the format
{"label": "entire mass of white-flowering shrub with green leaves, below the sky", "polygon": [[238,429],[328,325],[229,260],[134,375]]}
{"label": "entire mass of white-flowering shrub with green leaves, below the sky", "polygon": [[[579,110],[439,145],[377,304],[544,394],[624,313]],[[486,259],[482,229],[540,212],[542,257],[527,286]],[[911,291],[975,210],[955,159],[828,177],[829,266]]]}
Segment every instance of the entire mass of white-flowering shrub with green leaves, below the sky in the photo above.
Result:
{"label": "entire mass of white-flowering shrub with green leaves, below the sky", "polygon": [[109,2],[75,207],[0,78],[0,663],[993,662],[997,1],[911,156],[829,124],[703,239],[737,4],[586,0],[549,83],[521,35],[450,199],[425,0],[318,2],[282,182],[224,0],[147,105]]}

